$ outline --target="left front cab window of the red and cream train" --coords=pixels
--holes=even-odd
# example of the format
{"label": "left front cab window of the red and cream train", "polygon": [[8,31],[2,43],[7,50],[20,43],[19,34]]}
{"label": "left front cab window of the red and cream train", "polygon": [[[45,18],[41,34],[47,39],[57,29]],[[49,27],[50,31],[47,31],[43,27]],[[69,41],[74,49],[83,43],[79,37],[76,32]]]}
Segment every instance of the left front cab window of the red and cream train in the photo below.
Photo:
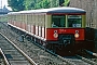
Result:
{"label": "left front cab window of the red and cream train", "polygon": [[52,16],[52,27],[65,27],[65,15],[53,15]]}

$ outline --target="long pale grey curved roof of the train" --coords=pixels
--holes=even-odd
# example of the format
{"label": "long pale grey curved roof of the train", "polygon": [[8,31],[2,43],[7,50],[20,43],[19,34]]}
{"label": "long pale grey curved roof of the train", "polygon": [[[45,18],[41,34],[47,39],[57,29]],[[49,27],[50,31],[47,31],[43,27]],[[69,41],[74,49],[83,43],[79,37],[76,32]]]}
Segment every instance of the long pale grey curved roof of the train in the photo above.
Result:
{"label": "long pale grey curved roof of the train", "polygon": [[60,6],[60,8],[51,8],[51,9],[11,12],[9,14],[17,14],[17,13],[22,14],[22,13],[86,13],[86,12],[83,9]]}

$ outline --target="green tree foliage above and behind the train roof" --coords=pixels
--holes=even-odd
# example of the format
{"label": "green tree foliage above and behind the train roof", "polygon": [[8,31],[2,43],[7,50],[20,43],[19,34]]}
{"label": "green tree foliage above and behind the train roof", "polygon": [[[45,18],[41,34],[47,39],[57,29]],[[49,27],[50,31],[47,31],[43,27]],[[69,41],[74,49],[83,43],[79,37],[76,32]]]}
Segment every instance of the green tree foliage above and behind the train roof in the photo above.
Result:
{"label": "green tree foliage above and behind the train roof", "polygon": [[13,11],[67,6],[70,0],[8,0]]}

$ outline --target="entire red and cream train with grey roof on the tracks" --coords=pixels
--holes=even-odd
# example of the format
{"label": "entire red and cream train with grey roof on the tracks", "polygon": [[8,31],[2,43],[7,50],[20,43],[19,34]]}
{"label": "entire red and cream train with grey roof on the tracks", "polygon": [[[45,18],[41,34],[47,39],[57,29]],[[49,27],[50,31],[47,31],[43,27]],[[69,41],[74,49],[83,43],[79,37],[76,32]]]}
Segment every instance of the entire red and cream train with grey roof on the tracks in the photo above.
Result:
{"label": "entire red and cream train with grey roof on the tracks", "polygon": [[51,8],[11,12],[9,26],[59,55],[94,50],[94,29],[86,27],[86,12],[78,8]]}

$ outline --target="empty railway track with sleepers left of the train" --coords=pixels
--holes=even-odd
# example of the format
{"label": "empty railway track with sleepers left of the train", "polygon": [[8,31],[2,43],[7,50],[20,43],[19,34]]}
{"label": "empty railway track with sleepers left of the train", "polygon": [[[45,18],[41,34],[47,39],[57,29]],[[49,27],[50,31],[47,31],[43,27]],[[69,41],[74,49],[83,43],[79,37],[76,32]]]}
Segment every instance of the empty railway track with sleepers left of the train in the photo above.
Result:
{"label": "empty railway track with sleepers left of the train", "polygon": [[[6,65],[37,65],[33,61],[0,32],[0,49]],[[31,63],[32,62],[32,63]]]}

